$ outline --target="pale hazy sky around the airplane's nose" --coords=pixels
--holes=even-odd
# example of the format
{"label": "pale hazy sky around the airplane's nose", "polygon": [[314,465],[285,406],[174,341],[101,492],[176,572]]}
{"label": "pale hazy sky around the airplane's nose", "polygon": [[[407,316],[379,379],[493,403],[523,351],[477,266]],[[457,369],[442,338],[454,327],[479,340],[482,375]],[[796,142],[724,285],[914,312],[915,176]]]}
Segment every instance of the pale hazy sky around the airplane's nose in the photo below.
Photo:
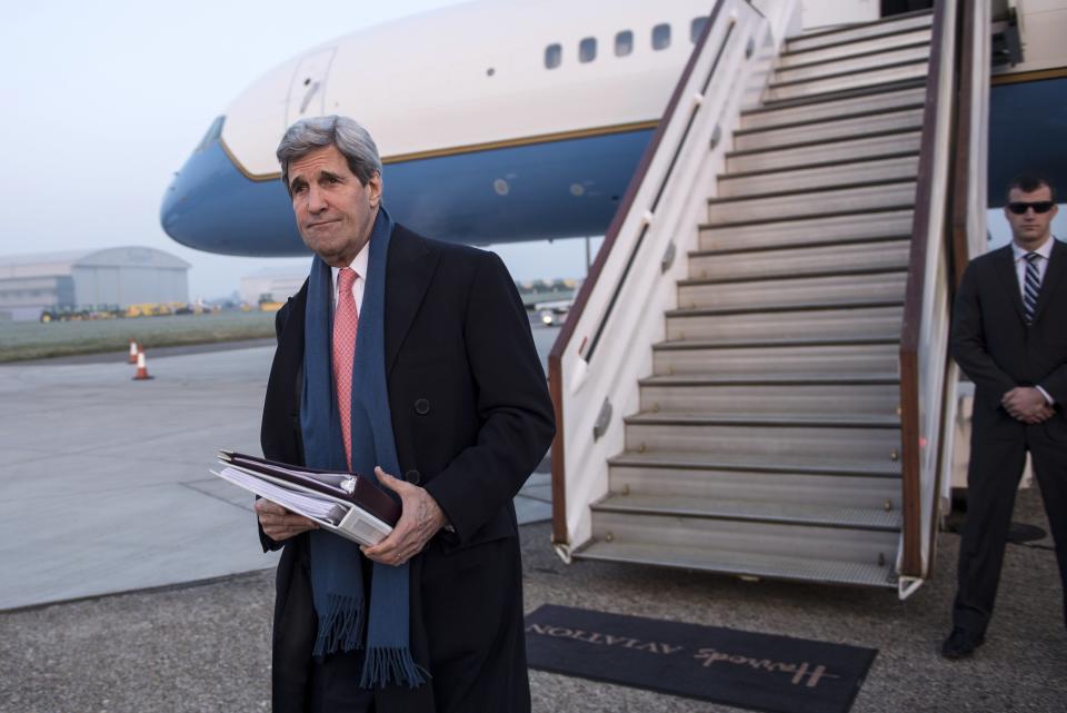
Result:
{"label": "pale hazy sky around the airplane's nose", "polygon": [[[319,42],[456,2],[4,3],[0,254],[146,245],[192,264],[191,297],[229,295],[280,263],[191,250],[159,225],[163,191],[212,119]],[[498,251],[517,279],[585,274],[582,240]]]}

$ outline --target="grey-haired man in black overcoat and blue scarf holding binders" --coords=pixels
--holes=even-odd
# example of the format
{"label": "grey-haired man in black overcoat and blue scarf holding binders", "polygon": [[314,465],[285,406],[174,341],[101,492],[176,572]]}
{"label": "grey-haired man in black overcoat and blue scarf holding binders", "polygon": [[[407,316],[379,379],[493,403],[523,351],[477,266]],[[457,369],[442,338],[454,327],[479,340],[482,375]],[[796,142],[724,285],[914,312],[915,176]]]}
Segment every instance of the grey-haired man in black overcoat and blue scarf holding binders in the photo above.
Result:
{"label": "grey-haired man in black overcoat and blue scarf holding binders", "polygon": [[[309,443],[322,443],[321,434],[309,428],[323,428],[313,419],[309,425],[302,413],[311,403],[302,393],[312,384],[307,372],[318,369],[336,386],[352,374],[347,365],[355,358],[351,394],[359,398],[365,375],[358,365],[368,355],[353,357],[353,345],[341,343],[351,341],[350,335],[343,340],[338,335],[348,321],[352,331],[372,328],[368,304],[378,287],[383,339],[380,358],[371,356],[383,367],[398,472],[377,468],[375,476],[400,499],[402,515],[385,541],[341,561],[356,573],[355,588],[372,594],[356,613],[355,643],[328,644],[332,648],[322,654],[318,638],[325,614],[315,588],[330,581],[323,562],[337,559],[326,549],[335,543],[316,537],[337,538],[273,503],[257,502],[265,549],[283,549],[275,603],[273,710],[529,711],[512,498],[545,455],[555,419],[515,285],[491,252],[429,240],[391,224],[381,205],[377,148],[351,119],[301,120],[287,131],[278,156],[301,237],[317,258],[312,277],[278,313],[263,455],[296,465],[321,461],[307,450]],[[381,273],[375,276],[376,260],[383,285]],[[332,299],[316,291],[316,266]],[[355,278],[345,280],[346,270]],[[326,315],[332,336],[329,350],[311,358],[306,341],[315,331],[308,321],[319,319],[317,314]],[[348,397],[346,386],[332,410],[326,404],[322,413],[347,413],[338,404]],[[356,438],[350,435],[356,425],[340,426],[342,438]],[[350,445],[346,442],[346,448]],[[357,455],[349,452],[348,462]],[[389,567],[405,573],[406,646],[417,671],[408,679],[389,679],[365,658],[376,616],[395,611],[400,601],[378,596],[375,602],[376,580],[396,578]]]}

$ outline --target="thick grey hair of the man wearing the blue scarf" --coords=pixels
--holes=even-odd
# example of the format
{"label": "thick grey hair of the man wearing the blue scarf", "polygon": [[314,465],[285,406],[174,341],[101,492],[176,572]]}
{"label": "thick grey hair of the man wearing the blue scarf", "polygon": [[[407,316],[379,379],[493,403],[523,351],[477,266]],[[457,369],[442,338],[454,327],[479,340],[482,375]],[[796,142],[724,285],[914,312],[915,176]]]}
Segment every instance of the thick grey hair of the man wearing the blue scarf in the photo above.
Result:
{"label": "thick grey hair of the man wearing the blue scarf", "polygon": [[363,186],[375,174],[381,174],[378,147],[367,129],[348,117],[310,117],[289,127],[278,145],[276,156],[281,164],[281,182],[286,190],[289,190],[289,165],[330,145],[348,160],[348,169]]}

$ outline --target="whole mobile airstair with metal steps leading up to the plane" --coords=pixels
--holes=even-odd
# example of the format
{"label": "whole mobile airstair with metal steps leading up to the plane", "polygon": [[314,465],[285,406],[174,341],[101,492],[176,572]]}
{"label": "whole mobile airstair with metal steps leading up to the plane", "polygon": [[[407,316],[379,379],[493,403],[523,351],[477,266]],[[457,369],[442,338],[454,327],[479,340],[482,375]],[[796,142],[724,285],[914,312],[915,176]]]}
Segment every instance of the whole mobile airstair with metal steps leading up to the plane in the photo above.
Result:
{"label": "whole mobile airstair with metal steps leading up to the plane", "polygon": [[797,2],[716,6],[550,357],[565,559],[929,576],[984,196],[970,4],[807,34]]}

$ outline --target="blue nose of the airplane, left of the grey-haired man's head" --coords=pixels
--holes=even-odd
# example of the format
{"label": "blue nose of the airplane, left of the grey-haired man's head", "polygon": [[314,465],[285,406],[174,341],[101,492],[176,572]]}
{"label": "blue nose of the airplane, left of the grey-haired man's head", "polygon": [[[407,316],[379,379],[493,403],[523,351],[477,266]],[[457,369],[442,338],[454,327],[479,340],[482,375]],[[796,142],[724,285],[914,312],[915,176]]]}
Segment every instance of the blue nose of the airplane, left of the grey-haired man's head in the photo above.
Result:
{"label": "blue nose of the airplane, left of the grey-haired man's head", "polygon": [[246,176],[222,141],[217,118],[181,167],[160,207],[163,230],[178,242],[223,255],[307,255],[285,187]]}

